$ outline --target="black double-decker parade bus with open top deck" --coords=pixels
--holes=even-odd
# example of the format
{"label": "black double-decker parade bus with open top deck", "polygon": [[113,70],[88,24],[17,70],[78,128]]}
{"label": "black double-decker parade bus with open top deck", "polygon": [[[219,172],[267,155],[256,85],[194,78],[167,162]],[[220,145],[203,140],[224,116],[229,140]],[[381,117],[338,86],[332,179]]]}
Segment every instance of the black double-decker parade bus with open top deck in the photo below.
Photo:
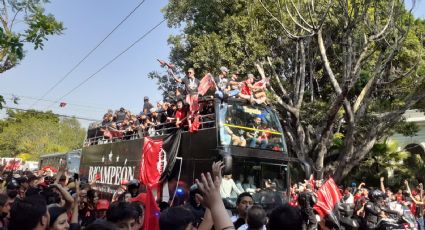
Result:
{"label": "black double-decker parade bus with open top deck", "polygon": [[[288,156],[280,119],[272,107],[232,98],[201,100],[200,105],[199,130],[190,133],[183,128],[177,155],[172,159],[168,155],[161,165],[164,173],[157,193],[160,200],[174,204],[186,200],[195,179],[211,171],[212,162],[218,159],[224,159],[224,174],[233,176],[240,191],[251,192],[263,205],[267,203],[265,191],[273,191],[278,200],[285,200],[291,178],[298,180],[291,177],[292,169],[309,173],[302,162]],[[121,181],[139,178],[144,139],[140,132],[105,139],[93,135],[101,133],[102,127],[96,129],[88,131],[91,135],[82,149],[80,176],[96,179],[96,189],[111,194]],[[172,124],[161,124],[151,137],[163,139],[175,129]],[[231,194],[229,198],[236,196]]]}

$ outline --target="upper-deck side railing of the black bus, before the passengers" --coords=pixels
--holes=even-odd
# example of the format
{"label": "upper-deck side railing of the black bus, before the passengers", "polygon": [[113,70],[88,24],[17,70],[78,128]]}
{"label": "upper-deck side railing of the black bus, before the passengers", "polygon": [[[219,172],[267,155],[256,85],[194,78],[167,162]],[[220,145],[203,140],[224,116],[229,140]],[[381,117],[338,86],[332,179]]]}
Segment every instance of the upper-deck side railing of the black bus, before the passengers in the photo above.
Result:
{"label": "upper-deck side railing of the black bus, before the passengers", "polygon": [[[204,118],[208,118],[208,120],[204,120]],[[199,130],[215,127],[215,114],[200,115],[199,120]],[[134,130],[131,134],[126,134],[125,130],[113,130],[110,126],[103,125],[95,128],[97,131],[95,131],[95,135],[93,137],[88,137],[85,139],[84,146],[108,144],[125,140],[135,140],[141,139],[143,137],[162,136],[169,134],[179,128],[183,128],[184,131],[188,131],[189,126],[187,124],[183,127],[176,127],[175,124],[175,121],[159,123],[156,125],[151,125],[149,128],[145,128],[144,130]],[[105,132],[112,132],[112,137],[105,136]]]}

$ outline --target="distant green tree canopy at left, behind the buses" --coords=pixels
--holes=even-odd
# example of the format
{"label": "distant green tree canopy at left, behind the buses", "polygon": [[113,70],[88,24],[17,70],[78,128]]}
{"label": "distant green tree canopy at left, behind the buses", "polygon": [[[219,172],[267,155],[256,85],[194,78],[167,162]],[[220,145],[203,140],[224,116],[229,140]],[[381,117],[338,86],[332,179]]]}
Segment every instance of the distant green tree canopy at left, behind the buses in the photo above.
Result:
{"label": "distant green tree canopy at left, behind the buses", "polygon": [[8,110],[0,120],[0,156],[66,152],[82,147],[85,130],[75,118],[59,118],[51,112]]}

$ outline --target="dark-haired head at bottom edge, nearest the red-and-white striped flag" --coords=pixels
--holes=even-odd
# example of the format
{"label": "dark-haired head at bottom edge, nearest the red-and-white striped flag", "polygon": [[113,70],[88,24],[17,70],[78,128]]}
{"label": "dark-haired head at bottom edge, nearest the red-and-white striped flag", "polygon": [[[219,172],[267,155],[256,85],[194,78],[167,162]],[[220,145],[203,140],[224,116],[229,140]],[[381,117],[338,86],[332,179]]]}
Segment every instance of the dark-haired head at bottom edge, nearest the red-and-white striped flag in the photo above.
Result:
{"label": "dark-haired head at bottom edge, nearest the red-and-white striped flag", "polygon": [[284,204],[279,206],[269,215],[269,230],[302,229],[303,219],[299,209]]}

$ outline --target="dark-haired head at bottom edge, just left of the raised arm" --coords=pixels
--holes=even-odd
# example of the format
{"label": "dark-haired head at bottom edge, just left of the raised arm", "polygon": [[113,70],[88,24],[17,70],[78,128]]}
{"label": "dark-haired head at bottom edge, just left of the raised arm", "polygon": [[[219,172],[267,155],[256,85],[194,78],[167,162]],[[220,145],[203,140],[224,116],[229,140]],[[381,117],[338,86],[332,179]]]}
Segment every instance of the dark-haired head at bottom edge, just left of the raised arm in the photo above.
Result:
{"label": "dark-haired head at bottom edge, just left of the raised arm", "polygon": [[167,208],[159,216],[159,229],[161,230],[185,230],[194,222],[192,212],[183,207],[175,206]]}

